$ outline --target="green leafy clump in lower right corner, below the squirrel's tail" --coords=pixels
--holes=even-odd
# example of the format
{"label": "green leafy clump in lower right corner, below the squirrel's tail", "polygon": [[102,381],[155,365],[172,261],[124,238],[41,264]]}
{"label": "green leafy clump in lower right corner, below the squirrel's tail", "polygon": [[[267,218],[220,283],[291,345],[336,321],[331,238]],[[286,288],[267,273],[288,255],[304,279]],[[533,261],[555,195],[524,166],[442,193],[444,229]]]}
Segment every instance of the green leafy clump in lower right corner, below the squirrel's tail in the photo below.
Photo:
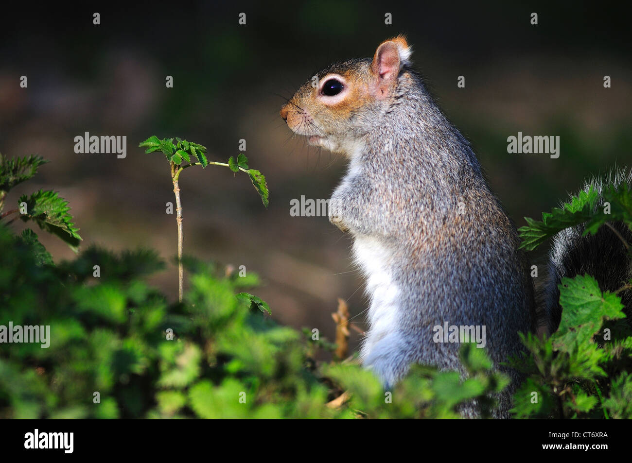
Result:
{"label": "green leafy clump in lower right corner, below the squirrel's tail", "polygon": [[623,304],[588,275],[562,279],[562,320],[549,339],[523,335],[528,375],[514,395],[517,418],[632,418],[621,400],[629,383],[616,375],[632,370],[632,331],[622,323]]}

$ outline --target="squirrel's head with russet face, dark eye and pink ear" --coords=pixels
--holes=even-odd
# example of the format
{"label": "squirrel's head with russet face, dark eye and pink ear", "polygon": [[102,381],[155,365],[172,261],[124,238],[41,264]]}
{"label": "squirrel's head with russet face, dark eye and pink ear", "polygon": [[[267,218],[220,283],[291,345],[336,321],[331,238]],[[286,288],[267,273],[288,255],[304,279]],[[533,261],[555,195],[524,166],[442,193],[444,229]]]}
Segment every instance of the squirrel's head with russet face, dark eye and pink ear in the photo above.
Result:
{"label": "squirrel's head with russet face, dark eye and pink ear", "polygon": [[351,153],[393,104],[398,80],[410,64],[402,35],[382,42],[373,59],[332,64],[308,80],[281,108],[281,117],[310,145]]}

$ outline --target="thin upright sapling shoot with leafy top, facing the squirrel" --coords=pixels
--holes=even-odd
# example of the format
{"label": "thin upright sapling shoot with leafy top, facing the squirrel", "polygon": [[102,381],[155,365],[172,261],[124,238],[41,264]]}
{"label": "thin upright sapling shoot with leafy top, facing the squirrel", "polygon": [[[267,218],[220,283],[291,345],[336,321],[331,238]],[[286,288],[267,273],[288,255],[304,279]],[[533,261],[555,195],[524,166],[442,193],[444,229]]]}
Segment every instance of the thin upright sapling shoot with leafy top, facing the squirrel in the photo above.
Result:
{"label": "thin upright sapling shoot with leafy top, facing the squirrel", "polygon": [[[178,221],[178,299],[182,302],[182,291],[184,282],[184,268],[182,263],[182,205],[180,202],[179,178],[182,171],[192,165],[201,165],[205,169],[207,165],[222,165],[229,167],[233,172],[245,172],[250,176],[253,186],[261,196],[261,201],[265,207],[268,207],[268,186],[265,183],[264,175],[255,170],[248,168],[248,158],[240,153],[237,160],[231,156],[226,162],[209,161],[206,157],[207,148],[193,143],[193,141],[182,140],[176,136],[176,143],[173,138],[163,138],[162,140],[155,135],[150,136],[147,140],[139,143],[141,148],[147,148],[145,153],[161,151],[167,157],[169,165],[171,165],[171,182],[173,183],[173,193],[176,195],[176,220]],[[193,161],[191,161],[193,159]],[[197,162],[195,162],[197,160]],[[185,164],[186,163],[186,164]]]}

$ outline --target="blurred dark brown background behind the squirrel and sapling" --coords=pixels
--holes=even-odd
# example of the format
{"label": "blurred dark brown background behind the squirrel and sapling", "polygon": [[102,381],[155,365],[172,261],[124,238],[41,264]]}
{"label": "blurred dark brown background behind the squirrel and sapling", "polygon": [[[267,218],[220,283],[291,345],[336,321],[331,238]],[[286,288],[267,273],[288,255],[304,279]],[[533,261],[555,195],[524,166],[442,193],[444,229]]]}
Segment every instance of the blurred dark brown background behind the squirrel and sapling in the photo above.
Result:
{"label": "blurred dark brown background behind the squirrel and sapling", "polygon": [[[188,169],[181,176],[185,252],[262,275],[255,292],[274,318],[317,327],[332,339],[331,312],[348,299],[363,328],[362,280],[350,241],[326,217],[291,217],[292,198],[328,198],[345,162],[290,136],[284,98],[340,59],[373,56],[406,33],[413,61],[449,118],[471,140],[490,184],[520,226],[583,180],[632,164],[630,8],[611,3],[153,2],[92,6],[3,5],[0,152],[51,160],[7,204],[35,188],[70,201],[82,246],[150,246],[171,262],[176,221],[161,153],[137,148],[150,135],[180,136],[237,155],[270,188],[265,210],[245,176]],[[92,15],[100,13],[100,25]],[[246,25],[238,15],[246,13]],[[384,24],[392,13],[392,25]],[[530,13],[538,13],[538,25]],[[28,88],[20,88],[20,76]],[[165,78],[174,78],[174,88]],[[465,88],[457,88],[463,75]],[[603,78],[612,78],[612,88]],[[126,159],[76,154],[76,135],[126,135]],[[559,135],[561,155],[510,155],[507,136]],[[16,224],[16,229],[21,225]],[[72,258],[40,234],[56,261]],[[538,255],[533,255],[537,258]],[[104,270],[102,270],[104,271]],[[154,277],[177,297],[171,265]],[[358,335],[353,333],[355,342]]]}

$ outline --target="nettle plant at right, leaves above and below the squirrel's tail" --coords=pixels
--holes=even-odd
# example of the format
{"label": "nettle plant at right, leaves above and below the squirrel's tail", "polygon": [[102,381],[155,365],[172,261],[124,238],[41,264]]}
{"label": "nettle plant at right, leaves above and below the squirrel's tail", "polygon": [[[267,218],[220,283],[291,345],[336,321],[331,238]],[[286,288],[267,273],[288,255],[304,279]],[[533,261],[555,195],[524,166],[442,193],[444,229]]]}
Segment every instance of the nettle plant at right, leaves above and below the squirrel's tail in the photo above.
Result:
{"label": "nettle plant at right, leaves above and below the squirrel's tail", "polygon": [[[601,198],[595,189],[582,191],[543,213],[541,221],[526,222],[520,234],[527,250],[581,225],[584,236],[609,227],[629,251],[630,243],[612,224],[632,230],[632,194],[624,183],[605,187]],[[558,287],[559,328],[548,339],[523,335],[527,355],[511,362],[527,375],[514,395],[516,418],[632,418],[632,321],[621,303],[632,281],[609,292],[592,276],[577,275]]]}

